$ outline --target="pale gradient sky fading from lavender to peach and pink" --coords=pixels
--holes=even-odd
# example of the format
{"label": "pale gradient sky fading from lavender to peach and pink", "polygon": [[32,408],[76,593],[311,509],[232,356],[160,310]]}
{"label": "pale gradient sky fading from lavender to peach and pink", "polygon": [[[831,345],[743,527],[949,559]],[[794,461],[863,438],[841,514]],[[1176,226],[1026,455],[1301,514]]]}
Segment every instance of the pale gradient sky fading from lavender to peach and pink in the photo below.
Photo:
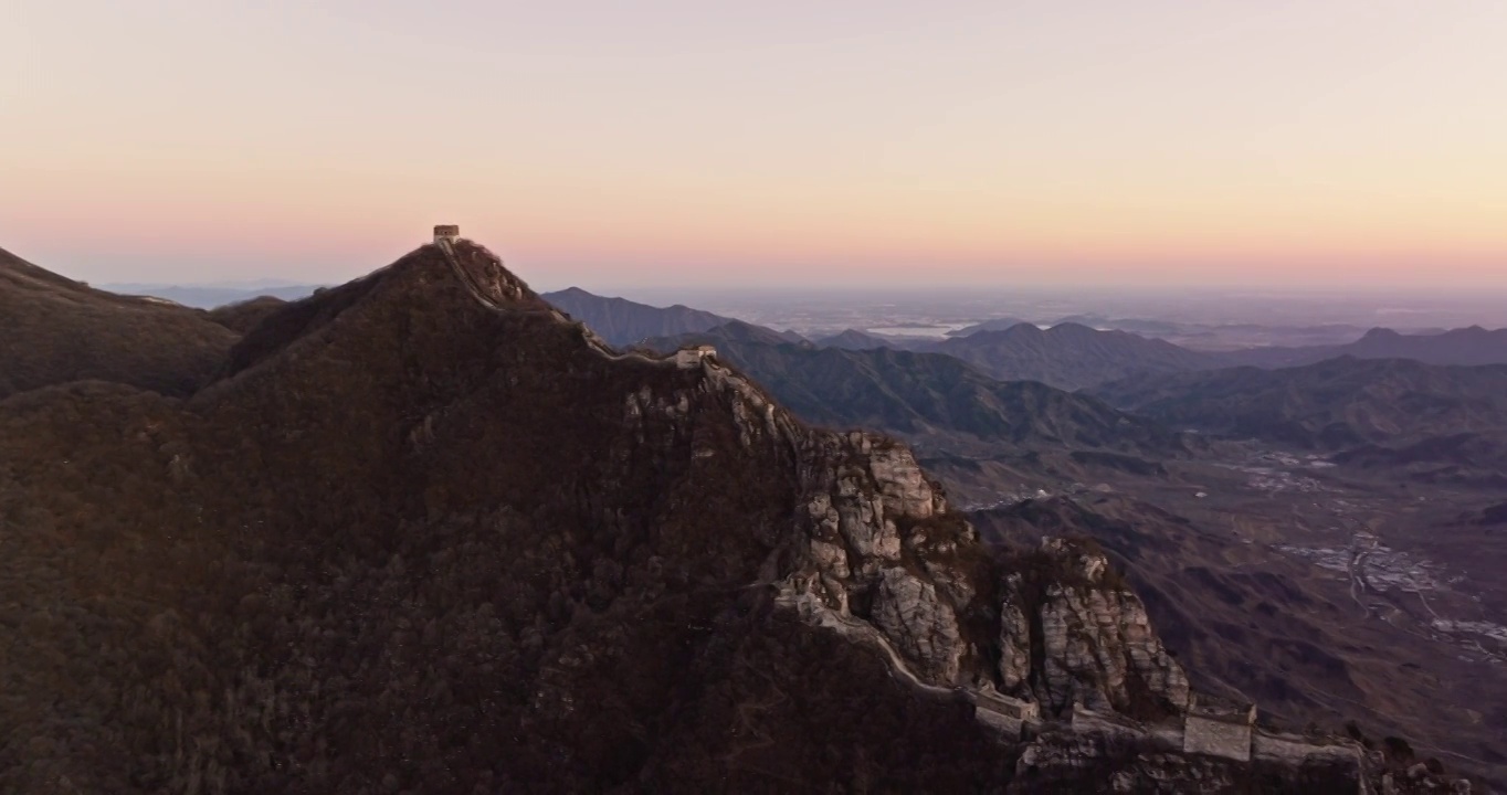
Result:
{"label": "pale gradient sky fading from lavender to peach and pink", "polygon": [[5,0],[0,247],[536,288],[1507,288],[1507,3]]}

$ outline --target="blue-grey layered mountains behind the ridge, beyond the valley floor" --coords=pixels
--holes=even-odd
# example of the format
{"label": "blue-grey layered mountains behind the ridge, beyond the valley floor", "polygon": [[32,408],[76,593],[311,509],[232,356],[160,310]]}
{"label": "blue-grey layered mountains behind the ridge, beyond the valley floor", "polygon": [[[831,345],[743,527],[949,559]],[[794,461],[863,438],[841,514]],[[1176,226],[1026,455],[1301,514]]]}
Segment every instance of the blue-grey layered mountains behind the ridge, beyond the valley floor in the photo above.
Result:
{"label": "blue-grey layered mountains behind the ridge, beyond the valley floor", "polygon": [[[1117,434],[1096,428],[1103,428],[1103,422],[1118,423],[1117,417],[1055,390],[1029,391],[1010,384],[1020,381],[1056,390],[1093,390],[1120,408],[1174,428],[1326,450],[1361,444],[1394,447],[1499,423],[1499,410],[1481,414],[1472,408],[1471,401],[1490,401],[1490,387],[1477,382],[1486,376],[1435,372],[1429,361],[1507,361],[1507,330],[1475,327],[1439,334],[1373,330],[1341,346],[1233,352],[1189,351],[1159,339],[1073,322],[1047,330],[1014,322],[1002,330],[981,328],[919,343],[897,343],[850,328],[811,343],[793,333],[686,307],[656,309],[579,289],[546,298],[619,343],[633,337],[662,351],[714,345],[811,422],[877,428],[916,441],[954,437],[952,447],[957,435],[1016,444],[1050,440],[1090,449],[1112,446],[1108,440]],[[653,328],[693,330],[639,336]],[[1406,355],[1421,361],[1395,360]],[[1343,358],[1328,361],[1337,357]],[[1272,370],[1295,360],[1328,363]],[[1507,394],[1507,388],[1501,393]],[[1061,417],[1074,422],[1058,425]],[[1124,428],[1118,431],[1123,437]],[[1147,440],[1127,444],[1138,447]],[[1477,458],[1478,447],[1471,447]]]}

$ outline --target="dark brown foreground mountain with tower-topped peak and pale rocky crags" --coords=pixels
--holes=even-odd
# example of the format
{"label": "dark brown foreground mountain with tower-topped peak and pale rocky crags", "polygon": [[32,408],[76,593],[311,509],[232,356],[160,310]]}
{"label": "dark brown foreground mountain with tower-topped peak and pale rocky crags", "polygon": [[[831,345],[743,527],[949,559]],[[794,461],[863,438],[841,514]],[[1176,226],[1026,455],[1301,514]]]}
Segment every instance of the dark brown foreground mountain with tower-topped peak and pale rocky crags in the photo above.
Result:
{"label": "dark brown foreground mountain with tower-topped peak and pale rocky crags", "polygon": [[0,789],[1091,790],[980,694],[1186,703],[1093,550],[990,551],[903,446],[618,355],[473,244],[223,372],[0,402]]}

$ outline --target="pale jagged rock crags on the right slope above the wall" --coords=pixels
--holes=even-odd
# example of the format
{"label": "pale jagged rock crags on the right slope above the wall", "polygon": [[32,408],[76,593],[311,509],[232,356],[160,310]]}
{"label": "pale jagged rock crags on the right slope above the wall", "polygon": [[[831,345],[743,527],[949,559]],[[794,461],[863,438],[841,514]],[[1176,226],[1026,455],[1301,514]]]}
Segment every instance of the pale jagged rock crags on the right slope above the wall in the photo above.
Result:
{"label": "pale jagged rock crags on the right slope above the wall", "polygon": [[[909,449],[862,432],[805,432],[799,446],[809,498],[799,512],[803,565],[790,581],[870,622],[915,676],[989,684],[1052,715],[1073,702],[1139,717],[1186,706],[1183,670],[1097,548],[1047,539],[1017,559],[961,565],[974,530],[948,515]],[[981,587],[989,577],[1002,586]],[[978,593],[1001,596],[983,604]],[[964,638],[964,614],[989,616],[990,635]]]}

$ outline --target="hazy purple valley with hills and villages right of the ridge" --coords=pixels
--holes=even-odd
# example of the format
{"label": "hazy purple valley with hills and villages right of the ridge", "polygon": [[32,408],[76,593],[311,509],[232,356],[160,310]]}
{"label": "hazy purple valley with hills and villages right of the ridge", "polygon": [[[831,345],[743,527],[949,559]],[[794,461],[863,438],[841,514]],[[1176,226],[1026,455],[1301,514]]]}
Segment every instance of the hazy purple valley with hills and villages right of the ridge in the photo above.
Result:
{"label": "hazy purple valley with hills and villages right of the ridge", "polygon": [[[1068,393],[990,385],[996,370],[940,352],[952,340],[873,340],[848,333],[824,348],[732,324],[650,345],[714,345],[808,420],[907,440],[981,527],[1070,503],[1070,521],[996,538],[1070,528],[1102,542],[1209,687],[1269,720],[1355,721],[1507,780],[1507,524],[1489,521],[1507,461],[1501,366],[1343,357],[1144,372]],[[1178,366],[1148,349],[1121,361]],[[1070,366],[1026,355],[1082,381],[1124,372],[1067,351],[1055,355]],[[1038,394],[1022,402],[1028,385]]]}

